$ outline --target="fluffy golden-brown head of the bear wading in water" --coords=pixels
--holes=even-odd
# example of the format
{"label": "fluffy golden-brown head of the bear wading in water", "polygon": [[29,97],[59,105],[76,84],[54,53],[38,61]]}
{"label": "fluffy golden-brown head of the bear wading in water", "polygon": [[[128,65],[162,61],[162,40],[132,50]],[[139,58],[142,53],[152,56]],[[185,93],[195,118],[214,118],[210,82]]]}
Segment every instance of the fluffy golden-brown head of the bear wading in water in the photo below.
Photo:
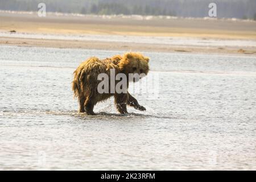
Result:
{"label": "fluffy golden-brown head of the bear wading in water", "polygon": [[147,75],[149,71],[149,58],[137,52],[127,52],[119,60],[118,68],[122,73],[138,73]]}

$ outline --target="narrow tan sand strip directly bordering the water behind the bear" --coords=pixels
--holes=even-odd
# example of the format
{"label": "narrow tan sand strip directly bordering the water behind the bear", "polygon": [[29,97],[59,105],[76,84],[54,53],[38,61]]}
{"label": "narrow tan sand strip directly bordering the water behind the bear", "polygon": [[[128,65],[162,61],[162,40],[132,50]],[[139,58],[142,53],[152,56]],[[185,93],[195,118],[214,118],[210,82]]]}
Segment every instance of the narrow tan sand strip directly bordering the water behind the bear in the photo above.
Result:
{"label": "narrow tan sand strip directly bordering the water behind the bear", "polygon": [[155,51],[155,52],[193,52],[193,53],[216,53],[216,54],[243,54],[256,55],[256,48],[240,47],[195,47],[195,46],[172,46],[161,44],[145,43],[117,43],[99,41],[77,41],[77,40],[47,40],[29,38],[7,38],[0,37],[0,44],[9,46],[26,47],[56,47],[56,48],[83,48],[83,49],[103,49],[117,51]]}

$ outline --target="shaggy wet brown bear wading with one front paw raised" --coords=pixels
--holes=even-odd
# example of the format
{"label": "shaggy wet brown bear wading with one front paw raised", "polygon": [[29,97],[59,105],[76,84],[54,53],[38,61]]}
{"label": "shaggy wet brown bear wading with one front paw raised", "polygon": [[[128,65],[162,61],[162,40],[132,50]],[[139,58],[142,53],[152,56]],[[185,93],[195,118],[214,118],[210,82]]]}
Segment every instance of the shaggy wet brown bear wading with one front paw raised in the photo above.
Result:
{"label": "shaggy wet brown bear wading with one front paw raised", "polygon": [[[141,53],[129,52],[123,56],[116,55],[103,60],[97,57],[90,57],[81,63],[73,73],[74,78],[72,82],[74,96],[78,97],[79,100],[79,112],[94,115],[94,105],[111,96],[114,96],[115,106],[121,114],[127,113],[126,105],[133,106],[138,110],[146,110],[127,91],[123,93],[99,93],[97,86],[101,82],[101,80],[98,80],[98,75],[106,73],[110,77],[110,70],[114,69],[115,75],[123,73],[126,76],[128,89],[129,73],[138,73],[138,75],[144,73],[144,75],[147,75],[149,71],[148,61],[148,57],[143,56]],[[116,85],[117,81],[114,81],[114,84]]]}

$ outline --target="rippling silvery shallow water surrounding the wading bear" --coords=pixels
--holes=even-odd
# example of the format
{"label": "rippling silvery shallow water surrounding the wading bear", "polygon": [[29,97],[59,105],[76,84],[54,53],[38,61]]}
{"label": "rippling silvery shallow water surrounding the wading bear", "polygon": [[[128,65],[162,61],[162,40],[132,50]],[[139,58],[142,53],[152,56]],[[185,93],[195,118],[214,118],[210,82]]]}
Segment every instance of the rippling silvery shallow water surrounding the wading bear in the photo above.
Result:
{"label": "rippling silvery shallow water surrounding the wading bear", "polygon": [[72,72],[117,53],[0,46],[0,169],[256,169],[256,57],[144,52],[147,111],[78,114]]}

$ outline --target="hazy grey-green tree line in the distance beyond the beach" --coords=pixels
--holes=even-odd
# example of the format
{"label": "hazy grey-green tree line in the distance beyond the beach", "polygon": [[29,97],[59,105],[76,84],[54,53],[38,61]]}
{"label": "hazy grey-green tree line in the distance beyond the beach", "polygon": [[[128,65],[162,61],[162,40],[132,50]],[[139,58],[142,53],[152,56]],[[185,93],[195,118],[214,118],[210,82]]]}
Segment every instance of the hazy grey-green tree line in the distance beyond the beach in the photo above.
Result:
{"label": "hazy grey-green tree line in the distance beyond the beach", "polygon": [[[97,15],[208,16],[212,0],[0,0],[0,10],[37,11],[44,2],[47,11]],[[215,0],[219,18],[256,19],[255,0]]]}

